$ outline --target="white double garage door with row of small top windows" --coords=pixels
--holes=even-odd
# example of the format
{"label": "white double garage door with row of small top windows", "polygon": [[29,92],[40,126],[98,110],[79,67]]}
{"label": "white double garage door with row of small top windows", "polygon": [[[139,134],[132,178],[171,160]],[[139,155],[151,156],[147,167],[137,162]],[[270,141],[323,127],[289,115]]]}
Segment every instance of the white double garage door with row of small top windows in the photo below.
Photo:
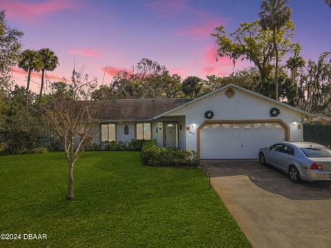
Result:
{"label": "white double garage door with row of small top windows", "polygon": [[280,123],[213,123],[200,130],[201,159],[258,158],[259,148],[285,141]]}

